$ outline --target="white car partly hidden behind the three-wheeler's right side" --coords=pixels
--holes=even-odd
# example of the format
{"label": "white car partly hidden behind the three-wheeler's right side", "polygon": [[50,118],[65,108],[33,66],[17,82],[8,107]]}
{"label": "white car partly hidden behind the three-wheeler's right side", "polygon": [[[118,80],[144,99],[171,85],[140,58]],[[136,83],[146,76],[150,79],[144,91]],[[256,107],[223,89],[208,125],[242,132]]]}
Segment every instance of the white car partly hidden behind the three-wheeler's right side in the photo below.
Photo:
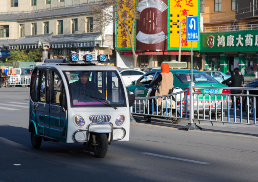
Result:
{"label": "white car partly hidden behind the three-wheeler's right side", "polygon": [[125,87],[131,85],[133,81],[138,80],[142,75],[146,73],[144,71],[135,69],[124,69],[119,71],[124,81]]}

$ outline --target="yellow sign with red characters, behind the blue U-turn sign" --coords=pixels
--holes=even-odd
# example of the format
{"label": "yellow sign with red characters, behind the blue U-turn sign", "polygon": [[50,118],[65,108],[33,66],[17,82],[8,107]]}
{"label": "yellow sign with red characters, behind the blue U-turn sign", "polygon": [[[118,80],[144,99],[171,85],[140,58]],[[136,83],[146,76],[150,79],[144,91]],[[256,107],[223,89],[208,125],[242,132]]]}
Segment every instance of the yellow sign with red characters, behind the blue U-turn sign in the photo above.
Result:
{"label": "yellow sign with red characters, behind the blue U-turn sign", "polygon": [[[181,48],[191,48],[191,43],[186,41],[186,16],[199,16],[198,0],[171,0],[170,1],[170,48],[179,48],[180,42],[180,24]],[[182,22],[182,23],[180,23]],[[174,25],[173,25],[174,23]],[[197,48],[198,42],[192,42],[192,47]],[[188,50],[188,49],[186,49]]]}

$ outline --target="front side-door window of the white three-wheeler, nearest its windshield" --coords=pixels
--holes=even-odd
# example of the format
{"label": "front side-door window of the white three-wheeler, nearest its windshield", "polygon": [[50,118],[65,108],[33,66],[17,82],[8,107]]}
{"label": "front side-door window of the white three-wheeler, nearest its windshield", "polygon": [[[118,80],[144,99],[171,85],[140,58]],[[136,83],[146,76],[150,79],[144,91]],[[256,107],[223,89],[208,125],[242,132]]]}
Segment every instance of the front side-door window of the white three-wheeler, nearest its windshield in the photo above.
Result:
{"label": "front side-door window of the white three-wheeler, nearest its windshield", "polygon": [[52,71],[52,103],[60,104],[59,96],[61,94],[61,85],[62,81],[59,75],[56,72]]}

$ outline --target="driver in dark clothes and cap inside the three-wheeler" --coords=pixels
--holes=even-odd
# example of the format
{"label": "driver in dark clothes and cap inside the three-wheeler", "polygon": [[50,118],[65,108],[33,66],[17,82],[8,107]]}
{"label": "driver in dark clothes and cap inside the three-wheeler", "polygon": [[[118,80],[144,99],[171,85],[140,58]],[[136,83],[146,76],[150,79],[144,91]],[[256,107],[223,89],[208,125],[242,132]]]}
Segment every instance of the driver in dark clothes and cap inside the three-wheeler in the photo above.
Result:
{"label": "driver in dark clothes and cap inside the three-wheeler", "polygon": [[98,90],[95,84],[89,81],[89,76],[89,71],[80,71],[78,75],[79,80],[70,84],[71,93],[73,94],[73,104],[78,102],[98,101],[90,96],[106,100],[105,96]]}

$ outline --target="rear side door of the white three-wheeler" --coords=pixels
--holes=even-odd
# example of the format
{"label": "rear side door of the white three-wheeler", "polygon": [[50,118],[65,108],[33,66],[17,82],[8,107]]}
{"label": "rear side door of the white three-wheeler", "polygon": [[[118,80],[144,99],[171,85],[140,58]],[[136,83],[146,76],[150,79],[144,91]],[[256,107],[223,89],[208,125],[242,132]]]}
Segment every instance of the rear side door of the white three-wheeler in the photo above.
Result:
{"label": "rear side door of the white three-wheeler", "polygon": [[35,89],[35,118],[39,134],[49,135],[49,72],[50,69],[39,69]]}

